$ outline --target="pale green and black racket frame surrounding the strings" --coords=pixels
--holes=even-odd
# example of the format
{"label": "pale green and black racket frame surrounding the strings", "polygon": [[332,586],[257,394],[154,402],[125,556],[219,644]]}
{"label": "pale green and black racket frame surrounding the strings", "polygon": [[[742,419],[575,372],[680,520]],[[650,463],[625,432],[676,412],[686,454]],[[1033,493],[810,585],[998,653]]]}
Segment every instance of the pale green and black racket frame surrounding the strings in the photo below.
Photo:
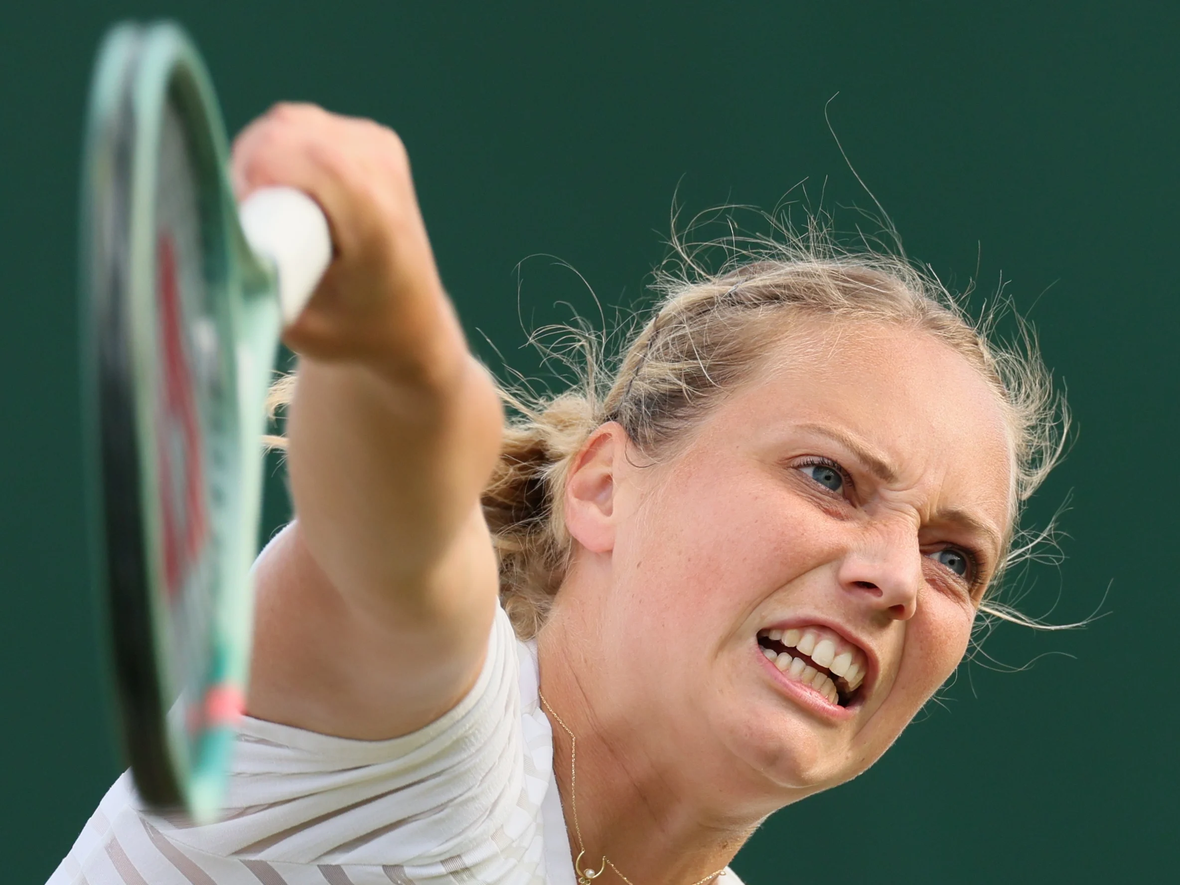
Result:
{"label": "pale green and black racket frame surrounding the strings", "polygon": [[[163,645],[160,502],[155,486],[158,391],[156,195],[165,109],[175,109],[197,170],[205,286],[216,304],[232,395],[223,409],[232,459],[211,514],[216,558],[214,648],[194,739],[172,709],[186,676]],[[171,22],[120,25],[96,64],[83,170],[83,374],[93,576],[106,634],[120,730],[136,786],[156,808],[198,821],[221,808],[248,676],[250,565],[261,511],[263,402],[281,328],[274,266],[243,236],[225,176],[228,142],[205,67]],[[170,710],[172,710],[170,713]]]}

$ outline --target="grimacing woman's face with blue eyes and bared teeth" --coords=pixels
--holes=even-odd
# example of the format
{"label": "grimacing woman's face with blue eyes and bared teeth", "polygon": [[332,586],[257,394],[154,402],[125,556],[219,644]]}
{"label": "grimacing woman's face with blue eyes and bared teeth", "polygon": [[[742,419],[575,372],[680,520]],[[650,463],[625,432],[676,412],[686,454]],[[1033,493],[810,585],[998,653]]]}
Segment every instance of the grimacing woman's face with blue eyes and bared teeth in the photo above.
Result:
{"label": "grimacing woman's face with blue eyes and bared teeth", "polygon": [[614,459],[585,601],[596,714],[766,811],[867,768],[959,663],[1011,487],[996,396],[945,346],[817,323],[782,347],[671,459]]}

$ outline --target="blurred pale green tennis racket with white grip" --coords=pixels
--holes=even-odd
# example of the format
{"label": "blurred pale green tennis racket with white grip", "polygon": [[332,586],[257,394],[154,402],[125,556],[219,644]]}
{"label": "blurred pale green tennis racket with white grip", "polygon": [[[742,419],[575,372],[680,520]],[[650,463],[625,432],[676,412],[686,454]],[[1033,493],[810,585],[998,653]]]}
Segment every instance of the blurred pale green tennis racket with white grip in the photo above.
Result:
{"label": "blurred pale green tennis racket with white grip", "polygon": [[83,169],[94,583],[123,745],[152,807],[222,804],[249,663],[267,386],[332,256],[319,206],[243,206],[205,67],[172,24],[98,54]]}

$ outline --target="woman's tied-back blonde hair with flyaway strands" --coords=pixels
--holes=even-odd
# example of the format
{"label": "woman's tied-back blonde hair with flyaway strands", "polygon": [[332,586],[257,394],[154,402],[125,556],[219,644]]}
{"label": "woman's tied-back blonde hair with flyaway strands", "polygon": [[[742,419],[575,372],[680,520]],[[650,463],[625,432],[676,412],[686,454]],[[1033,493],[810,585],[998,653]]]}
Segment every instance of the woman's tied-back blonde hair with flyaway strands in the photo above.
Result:
{"label": "woman's tied-back blonde hair with flyaway strands", "polygon": [[[573,458],[594,430],[617,421],[645,458],[668,457],[800,320],[913,329],[979,372],[1009,427],[1012,527],[1005,565],[1032,555],[1045,533],[1012,544],[1015,526],[1023,502],[1060,459],[1069,420],[1023,321],[1017,317],[1015,342],[998,342],[996,310],[972,319],[929,270],[885,251],[840,250],[815,228],[786,243],[739,245],[728,238],[720,243],[725,260],[713,270],[702,255],[719,242],[673,245],[671,260],[656,274],[660,297],[650,317],[614,360],[603,354],[608,333],[564,326],[557,329],[558,348],[548,353],[576,369],[576,384],[556,395],[533,393],[526,384],[502,386],[512,415],[483,509],[499,556],[500,602],[519,637],[535,636],[544,624],[569,565],[572,543],[560,503]],[[283,379],[273,388],[271,407],[289,396]],[[994,578],[992,588],[997,583]],[[1043,625],[994,599],[982,610]]]}

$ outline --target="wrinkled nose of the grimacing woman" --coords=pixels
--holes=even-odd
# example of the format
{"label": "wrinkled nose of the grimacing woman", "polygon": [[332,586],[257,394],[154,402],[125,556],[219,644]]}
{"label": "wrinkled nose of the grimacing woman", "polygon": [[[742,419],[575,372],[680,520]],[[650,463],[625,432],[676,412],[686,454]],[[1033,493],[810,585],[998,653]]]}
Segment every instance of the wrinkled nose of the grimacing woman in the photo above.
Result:
{"label": "wrinkled nose of the grimacing woman", "polygon": [[840,586],[864,598],[894,621],[909,621],[918,609],[925,578],[913,526],[874,526],[840,562]]}

